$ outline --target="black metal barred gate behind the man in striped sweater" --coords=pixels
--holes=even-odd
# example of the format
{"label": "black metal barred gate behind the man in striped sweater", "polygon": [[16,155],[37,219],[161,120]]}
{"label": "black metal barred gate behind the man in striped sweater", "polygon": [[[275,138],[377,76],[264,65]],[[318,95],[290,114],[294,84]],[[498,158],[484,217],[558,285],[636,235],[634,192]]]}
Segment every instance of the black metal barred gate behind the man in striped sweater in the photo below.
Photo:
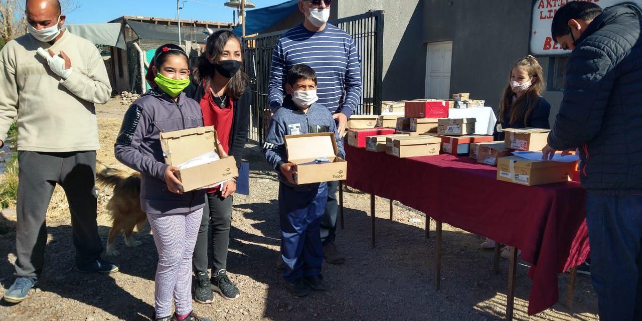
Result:
{"label": "black metal barred gate behind the man in striped sweater", "polygon": [[[370,11],[330,21],[330,23],[352,36],[361,61],[363,95],[355,114],[379,114],[383,83],[383,11]],[[270,119],[268,82],[272,51],[279,37],[286,31],[275,31],[243,39],[245,73],[250,77],[250,87],[254,94],[250,109],[248,138],[259,144],[263,144],[263,137]]]}

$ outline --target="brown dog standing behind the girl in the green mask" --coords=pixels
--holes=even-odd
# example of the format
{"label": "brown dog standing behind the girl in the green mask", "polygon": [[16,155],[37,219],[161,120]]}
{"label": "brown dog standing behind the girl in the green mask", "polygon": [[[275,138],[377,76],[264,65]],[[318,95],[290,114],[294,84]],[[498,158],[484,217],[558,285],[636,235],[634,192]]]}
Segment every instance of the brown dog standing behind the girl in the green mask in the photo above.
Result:
{"label": "brown dog standing behind the girl in the green mask", "polygon": [[147,221],[147,214],[141,210],[141,174],[108,168],[98,162],[96,163],[96,186],[114,188],[112,198],[107,203],[107,211],[111,214],[113,222],[105,253],[108,256],[119,254],[114,247],[114,239],[121,231],[125,234],[125,244],[128,247],[141,245],[140,241],[134,241],[132,238],[134,226],[141,230]]}

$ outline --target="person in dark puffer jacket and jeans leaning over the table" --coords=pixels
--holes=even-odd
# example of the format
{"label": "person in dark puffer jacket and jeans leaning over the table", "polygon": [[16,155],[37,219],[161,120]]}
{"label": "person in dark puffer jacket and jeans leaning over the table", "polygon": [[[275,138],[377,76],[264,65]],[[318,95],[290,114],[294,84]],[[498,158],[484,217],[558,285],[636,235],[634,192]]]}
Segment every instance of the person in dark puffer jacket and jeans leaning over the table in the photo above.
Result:
{"label": "person in dark puffer jacket and jeans leaning over the table", "polygon": [[642,320],[642,44],[632,4],[569,2],[553,39],[571,49],[544,157],[580,152],[601,320]]}

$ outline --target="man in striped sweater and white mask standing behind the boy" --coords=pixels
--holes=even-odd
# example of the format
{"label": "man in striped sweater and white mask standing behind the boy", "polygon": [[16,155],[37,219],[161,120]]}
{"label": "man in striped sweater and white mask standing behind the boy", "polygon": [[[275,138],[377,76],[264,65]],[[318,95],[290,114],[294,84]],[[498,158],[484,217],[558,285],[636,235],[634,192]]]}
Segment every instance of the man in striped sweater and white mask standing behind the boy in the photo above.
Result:
{"label": "man in striped sweater and white mask standing behind the boy", "polygon": [[[268,101],[272,112],[283,103],[286,75],[291,66],[306,64],[317,73],[317,103],[324,105],[343,135],[350,116],[361,102],[361,65],[354,40],[327,23],[332,0],[299,0],[304,22],[284,33],[272,54]],[[327,205],[321,221],[321,240],[328,263],[342,264],[345,256],[334,246],[338,181],[328,182]]]}

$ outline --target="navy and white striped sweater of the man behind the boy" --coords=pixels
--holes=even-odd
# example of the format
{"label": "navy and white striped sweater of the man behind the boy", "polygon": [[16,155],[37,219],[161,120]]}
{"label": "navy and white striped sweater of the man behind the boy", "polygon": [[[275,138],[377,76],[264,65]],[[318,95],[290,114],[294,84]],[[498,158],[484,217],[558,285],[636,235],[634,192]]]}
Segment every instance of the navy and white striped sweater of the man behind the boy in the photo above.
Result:
{"label": "navy and white striped sweater of the man behind the boy", "polygon": [[331,114],[350,117],[361,102],[361,65],[352,37],[325,24],[314,32],[299,24],[284,33],[272,53],[268,101],[274,111],[281,107],[290,67],[306,64],[317,73],[317,103]]}

